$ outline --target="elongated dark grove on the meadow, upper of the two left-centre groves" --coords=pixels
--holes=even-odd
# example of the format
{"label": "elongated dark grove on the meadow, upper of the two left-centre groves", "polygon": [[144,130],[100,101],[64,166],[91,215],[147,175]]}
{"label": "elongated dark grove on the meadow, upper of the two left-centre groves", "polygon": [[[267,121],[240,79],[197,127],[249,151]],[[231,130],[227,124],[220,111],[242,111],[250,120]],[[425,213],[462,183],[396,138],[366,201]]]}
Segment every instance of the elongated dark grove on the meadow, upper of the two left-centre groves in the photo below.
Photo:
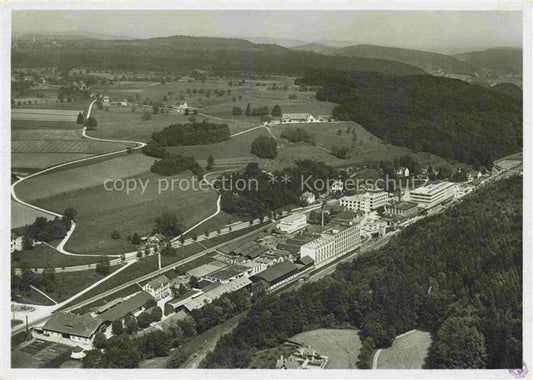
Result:
{"label": "elongated dark grove on the meadow, upper of the two left-centre groves", "polygon": [[212,144],[230,139],[227,124],[200,123],[172,124],[152,133],[152,140],[161,146]]}

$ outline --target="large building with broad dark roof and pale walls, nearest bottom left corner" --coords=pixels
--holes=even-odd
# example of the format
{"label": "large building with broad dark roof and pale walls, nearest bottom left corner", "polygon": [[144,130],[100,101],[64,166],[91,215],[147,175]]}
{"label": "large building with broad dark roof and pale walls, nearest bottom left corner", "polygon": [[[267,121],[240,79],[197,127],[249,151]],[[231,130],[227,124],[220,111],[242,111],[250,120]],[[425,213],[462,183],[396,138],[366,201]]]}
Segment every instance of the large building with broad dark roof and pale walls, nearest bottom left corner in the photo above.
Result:
{"label": "large building with broad dark roof and pale walls, nearest bottom left corner", "polygon": [[42,327],[42,338],[71,346],[92,347],[94,336],[103,323],[104,320],[89,315],[58,312]]}

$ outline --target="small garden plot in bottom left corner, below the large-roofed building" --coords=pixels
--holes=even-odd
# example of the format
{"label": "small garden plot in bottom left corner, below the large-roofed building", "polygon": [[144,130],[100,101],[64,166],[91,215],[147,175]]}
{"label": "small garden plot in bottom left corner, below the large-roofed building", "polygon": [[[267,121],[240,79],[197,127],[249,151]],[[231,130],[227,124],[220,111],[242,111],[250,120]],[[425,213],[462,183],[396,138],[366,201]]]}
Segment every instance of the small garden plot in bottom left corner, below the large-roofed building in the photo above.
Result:
{"label": "small garden plot in bottom left corner, below the large-roofed building", "polygon": [[57,368],[69,359],[72,347],[34,339],[11,351],[13,368]]}

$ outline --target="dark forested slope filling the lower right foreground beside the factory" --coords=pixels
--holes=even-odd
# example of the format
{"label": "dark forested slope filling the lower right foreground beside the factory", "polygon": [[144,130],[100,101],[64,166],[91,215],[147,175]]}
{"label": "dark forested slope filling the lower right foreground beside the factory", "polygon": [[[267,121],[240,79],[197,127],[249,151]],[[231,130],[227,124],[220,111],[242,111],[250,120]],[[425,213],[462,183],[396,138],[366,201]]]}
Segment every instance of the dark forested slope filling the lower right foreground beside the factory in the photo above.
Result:
{"label": "dark forested slope filling the lower right foreground beside the factory", "polygon": [[321,327],[358,329],[373,348],[430,331],[427,368],[521,368],[522,178],[478,190],[331,276],[258,296],[203,365],[246,367],[256,350]]}

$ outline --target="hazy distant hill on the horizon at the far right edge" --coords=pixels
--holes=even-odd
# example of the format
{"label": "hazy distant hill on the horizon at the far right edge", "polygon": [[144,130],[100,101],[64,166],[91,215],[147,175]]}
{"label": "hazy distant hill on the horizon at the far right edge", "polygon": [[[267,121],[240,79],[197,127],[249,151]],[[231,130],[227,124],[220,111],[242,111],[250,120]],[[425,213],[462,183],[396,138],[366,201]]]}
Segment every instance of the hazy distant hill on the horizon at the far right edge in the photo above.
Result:
{"label": "hazy distant hill on the horizon at the far right edge", "polygon": [[494,48],[457,54],[457,59],[497,74],[522,75],[522,49]]}

